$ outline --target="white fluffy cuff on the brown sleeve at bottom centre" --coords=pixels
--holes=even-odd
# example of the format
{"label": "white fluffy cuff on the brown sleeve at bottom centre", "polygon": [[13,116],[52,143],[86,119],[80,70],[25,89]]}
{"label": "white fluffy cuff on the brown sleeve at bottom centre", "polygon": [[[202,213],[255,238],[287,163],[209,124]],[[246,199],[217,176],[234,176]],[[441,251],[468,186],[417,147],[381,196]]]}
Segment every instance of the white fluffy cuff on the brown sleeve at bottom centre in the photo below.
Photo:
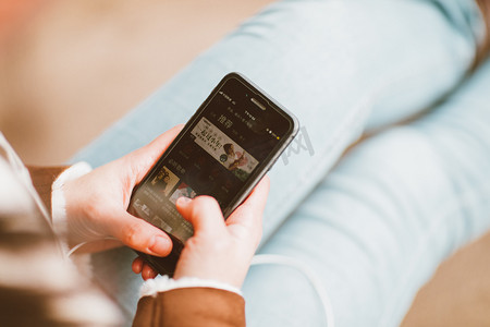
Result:
{"label": "white fluffy cuff on the brown sleeve at bottom centre", "polygon": [[243,296],[240,289],[224,282],[195,277],[183,277],[175,280],[173,278],[169,278],[169,276],[160,275],[157,276],[157,278],[148,279],[143,283],[142,289],[139,290],[139,296],[156,296],[159,292],[183,288],[211,288],[233,292]]}

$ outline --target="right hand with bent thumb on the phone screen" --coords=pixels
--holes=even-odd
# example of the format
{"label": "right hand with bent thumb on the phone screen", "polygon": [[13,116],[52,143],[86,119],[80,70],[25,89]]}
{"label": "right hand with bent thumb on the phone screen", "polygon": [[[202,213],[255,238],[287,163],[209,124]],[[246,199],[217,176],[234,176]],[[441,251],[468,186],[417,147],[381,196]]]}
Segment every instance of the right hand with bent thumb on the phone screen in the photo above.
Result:
{"label": "right hand with bent thumb on the phone screen", "polygon": [[[194,235],[185,243],[174,278],[197,277],[241,288],[260,242],[268,192],[266,177],[226,220],[212,197],[180,197],[177,210],[193,225]],[[157,276],[139,257],[133,271],[145,280]]]}

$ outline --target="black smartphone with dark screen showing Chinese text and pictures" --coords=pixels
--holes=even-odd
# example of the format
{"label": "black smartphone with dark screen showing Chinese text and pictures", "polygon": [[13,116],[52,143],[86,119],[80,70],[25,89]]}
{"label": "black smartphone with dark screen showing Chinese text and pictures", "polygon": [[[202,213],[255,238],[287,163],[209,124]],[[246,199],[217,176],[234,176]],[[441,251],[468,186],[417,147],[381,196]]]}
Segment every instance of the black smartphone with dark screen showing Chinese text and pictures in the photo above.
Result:
{"label": "black smartphone with dark screen showing Chinese text and pictures", "polygon": [[245,76],[224,76],[133,191],[128,213],[160,228],[173,242],[167,257],[138,254],[159,274],[173,276],[193,235],[176,199],[210,195],[226,218],[297,131],[297,119]]}

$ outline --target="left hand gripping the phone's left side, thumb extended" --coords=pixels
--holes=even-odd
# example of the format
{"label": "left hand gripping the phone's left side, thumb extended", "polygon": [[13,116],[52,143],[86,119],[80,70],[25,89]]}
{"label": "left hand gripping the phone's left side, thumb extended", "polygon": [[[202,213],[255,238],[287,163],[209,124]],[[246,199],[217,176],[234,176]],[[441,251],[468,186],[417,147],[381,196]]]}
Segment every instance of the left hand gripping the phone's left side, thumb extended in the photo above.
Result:
{"label": "left hand gripping the phone's left side, thumb extended", "polygon": [[[134,186],[181,130],[181,125],[175,126],[150,144],[63,185],[70,246],[90,242],[84,247],[102,251],[123,243],[151,255],[170,253],[170,238],[126,209]],[[111,238],[114,241],[107,240]]]}

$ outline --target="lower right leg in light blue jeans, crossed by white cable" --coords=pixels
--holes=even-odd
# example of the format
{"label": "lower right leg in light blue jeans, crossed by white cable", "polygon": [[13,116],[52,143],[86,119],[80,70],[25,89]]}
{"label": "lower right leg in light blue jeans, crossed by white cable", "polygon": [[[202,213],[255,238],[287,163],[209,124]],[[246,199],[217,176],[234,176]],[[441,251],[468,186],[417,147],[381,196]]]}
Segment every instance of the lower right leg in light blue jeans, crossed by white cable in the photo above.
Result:
{"label": "lower right leg in light blue jeans, crossed by white cable", "polygon": [[[490,227],[489,85],[490,61],[422,120],[354,148],[262,247],[321,276],[336,326],[399,326],[439,263]],[[324,326],[289,268],[253,268],[245,292],[250,326]]]}

